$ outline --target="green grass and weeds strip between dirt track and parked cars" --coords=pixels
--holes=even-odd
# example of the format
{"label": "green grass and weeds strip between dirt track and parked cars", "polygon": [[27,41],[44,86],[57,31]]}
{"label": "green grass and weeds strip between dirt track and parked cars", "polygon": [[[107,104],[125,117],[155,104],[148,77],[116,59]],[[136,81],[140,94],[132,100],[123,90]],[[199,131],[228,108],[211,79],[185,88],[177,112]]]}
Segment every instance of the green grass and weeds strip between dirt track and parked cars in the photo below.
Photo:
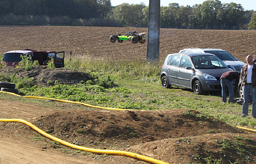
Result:
{"label": "green grass and weeds strip between dirt track and parked cars", "polygon": [[[242,105],[222,103],[221,92],[195,95],[192,90],[185,88],[172,86],[170,89],[163,89],[159,64],[137,59],[113,62],[83,57],[66,60],[65,68],[87,72],[95,78],[96,84],[87,81],[70,86],[48,81],[52,86],[46,88],[33,86],[32,79],[5,76],[4,73],[0,74],[0,80],[14,82],[16,85],[22,82],[19,85],[20,93],[27,96],[43,96],[123,109],[179,108],[187,110],[188,115],[192,115],[191,110],[196,110],[201,112],[196,116],[200,119],[214,116],[230,125],[247,126],[251,129],[256,125],[256,119],[251,116],[241,118]],[[235,98],[238,97],[236,92]],[[249,115],[251,112],[252,105],[249,107]]]}

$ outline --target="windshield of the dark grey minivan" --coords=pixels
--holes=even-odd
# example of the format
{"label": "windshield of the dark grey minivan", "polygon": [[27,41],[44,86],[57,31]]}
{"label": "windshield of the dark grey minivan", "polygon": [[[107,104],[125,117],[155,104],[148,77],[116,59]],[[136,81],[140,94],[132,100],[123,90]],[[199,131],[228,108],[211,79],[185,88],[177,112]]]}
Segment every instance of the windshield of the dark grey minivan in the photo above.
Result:
{"label": "windshield of the dark grey minivan", "polygon": [[191,59],[196,69],[228,68],[224,62],[215,56],[201,55]]}

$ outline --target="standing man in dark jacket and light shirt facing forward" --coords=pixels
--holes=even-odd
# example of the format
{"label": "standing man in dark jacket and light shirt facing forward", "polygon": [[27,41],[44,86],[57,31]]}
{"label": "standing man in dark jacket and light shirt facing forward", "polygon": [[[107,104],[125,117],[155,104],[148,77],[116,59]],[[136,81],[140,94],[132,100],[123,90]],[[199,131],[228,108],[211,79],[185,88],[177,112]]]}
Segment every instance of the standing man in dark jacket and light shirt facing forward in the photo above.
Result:
{"label": "standing man in dark jacket and light shirt facing forward", "polygon": [[248,115],[249,96],[252,96],[252,117],[256,118],[256,64],[253,62],[252,55],[246,57],[247,64],[241,69],[241,84],[244,92],[244,103],[242,117]]}

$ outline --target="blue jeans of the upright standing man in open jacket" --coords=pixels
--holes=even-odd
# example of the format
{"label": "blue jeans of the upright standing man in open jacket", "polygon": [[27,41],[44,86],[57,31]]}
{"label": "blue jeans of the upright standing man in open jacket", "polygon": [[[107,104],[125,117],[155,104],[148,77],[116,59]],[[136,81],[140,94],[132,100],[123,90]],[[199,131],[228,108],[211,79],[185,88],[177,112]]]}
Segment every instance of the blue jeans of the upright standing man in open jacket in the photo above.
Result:
{"label": "blue jeans of the upright standing man in open jacket", "polygon": [[242,108],[242,115],[248,115],[249,98],[252,95],[252,116],[256,116],[256,88],[252,88],[252,85],[244,85],[244,103]]}

